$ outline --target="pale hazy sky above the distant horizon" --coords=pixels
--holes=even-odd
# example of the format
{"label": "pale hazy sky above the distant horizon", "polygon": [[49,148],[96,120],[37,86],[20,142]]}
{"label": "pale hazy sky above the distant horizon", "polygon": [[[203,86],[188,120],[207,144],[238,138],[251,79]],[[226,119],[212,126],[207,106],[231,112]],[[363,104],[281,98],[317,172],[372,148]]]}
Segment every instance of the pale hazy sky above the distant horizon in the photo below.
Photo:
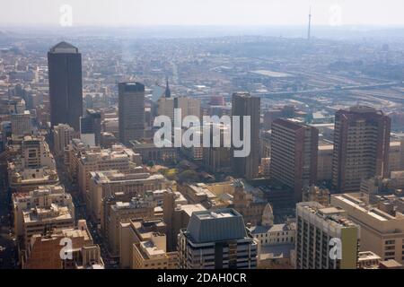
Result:
{"label": "pale hazy sky above the distant horizon", "polygon": [[[0,0],[0,25],[404,25],[404,0]],[[64,18],[66,19],[66,18]]]}

